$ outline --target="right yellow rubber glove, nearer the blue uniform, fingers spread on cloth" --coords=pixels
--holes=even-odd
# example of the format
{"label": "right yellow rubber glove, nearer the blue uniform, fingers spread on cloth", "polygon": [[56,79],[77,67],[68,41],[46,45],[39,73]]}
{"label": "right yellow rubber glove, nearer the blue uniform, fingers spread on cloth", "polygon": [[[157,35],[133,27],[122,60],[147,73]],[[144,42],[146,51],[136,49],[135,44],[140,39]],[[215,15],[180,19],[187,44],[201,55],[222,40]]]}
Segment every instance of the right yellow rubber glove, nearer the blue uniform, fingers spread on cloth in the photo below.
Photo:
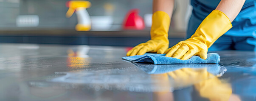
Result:
{"label": "right yellow rubber glove, nearer the blue uniform, fingers spread on cloth", "polygon": [[164,53],[167,57],[182,60],[194,55],[206,59],[208,48],[231,28],[232,24],[228,17],[223,12],[214,10],[203,20],[191,38],[180,41]]}

